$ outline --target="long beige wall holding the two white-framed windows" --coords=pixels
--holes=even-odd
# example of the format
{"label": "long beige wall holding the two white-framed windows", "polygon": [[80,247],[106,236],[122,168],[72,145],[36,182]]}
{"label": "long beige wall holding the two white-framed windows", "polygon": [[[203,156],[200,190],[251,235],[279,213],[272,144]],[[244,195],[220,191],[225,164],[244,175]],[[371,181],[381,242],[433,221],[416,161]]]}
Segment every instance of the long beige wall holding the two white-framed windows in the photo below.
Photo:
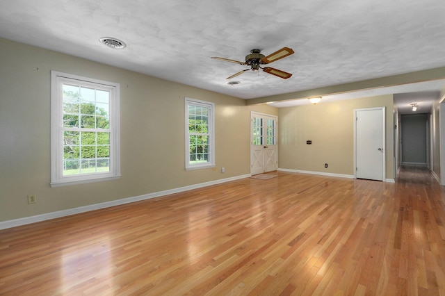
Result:
{"label": "long beige wall holding the two white-framed windows", "polygon": [[[116,181],[51,188],[50,71],[120,83]],[[0,222],[250,173],[250,111],[270,106],[0,39]],[[184,170],[184,97],[216,104],[218,170]],[[220,173],[225,167],[225,173]],[[26,196],[37,195],[37,204]]]}

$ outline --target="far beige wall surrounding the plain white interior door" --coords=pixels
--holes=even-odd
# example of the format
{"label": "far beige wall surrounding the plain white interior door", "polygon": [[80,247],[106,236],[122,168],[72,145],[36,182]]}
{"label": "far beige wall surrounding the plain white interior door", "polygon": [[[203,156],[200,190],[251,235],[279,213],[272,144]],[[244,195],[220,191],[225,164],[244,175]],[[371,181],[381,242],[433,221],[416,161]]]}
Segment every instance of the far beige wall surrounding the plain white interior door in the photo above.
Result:
{"label": "far beige wall surrounding the plain white interior door", "polygon": [[[280,108],[278,166],[289,170],[353,175],[354,110],[382,106],[386,107],[386,178],[394,179],[392,94]],[[312,140],[312,145],[307,145],[307,140]]]}

